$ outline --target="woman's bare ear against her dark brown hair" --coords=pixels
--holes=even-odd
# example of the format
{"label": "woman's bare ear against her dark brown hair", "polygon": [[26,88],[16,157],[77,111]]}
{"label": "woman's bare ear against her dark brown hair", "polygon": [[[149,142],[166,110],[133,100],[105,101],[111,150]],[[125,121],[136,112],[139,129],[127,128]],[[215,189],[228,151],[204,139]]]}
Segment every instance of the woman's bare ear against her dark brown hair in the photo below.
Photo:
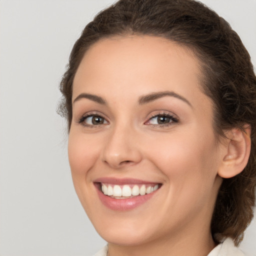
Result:
{"label": "woman's bare ear against her dark brown hair", "polygon": [[246,166],[250,154],[250,125],[232,128],[226,132],[224,156],[218,169],[222,178],[239,174]]}

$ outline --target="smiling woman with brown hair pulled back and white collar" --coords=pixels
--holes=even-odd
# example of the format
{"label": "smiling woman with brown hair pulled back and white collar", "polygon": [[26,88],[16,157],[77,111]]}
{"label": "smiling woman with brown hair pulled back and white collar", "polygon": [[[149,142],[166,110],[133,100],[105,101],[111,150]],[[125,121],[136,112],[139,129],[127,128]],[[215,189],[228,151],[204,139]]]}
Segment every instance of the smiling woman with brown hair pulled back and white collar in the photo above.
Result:
{"label": "smiling woman with brown hair pulled back and white collar", "polygon": [[97,255],[243,255],[256,77],[226,21],[193,0],[119,0],[84,28],[60,90]]}

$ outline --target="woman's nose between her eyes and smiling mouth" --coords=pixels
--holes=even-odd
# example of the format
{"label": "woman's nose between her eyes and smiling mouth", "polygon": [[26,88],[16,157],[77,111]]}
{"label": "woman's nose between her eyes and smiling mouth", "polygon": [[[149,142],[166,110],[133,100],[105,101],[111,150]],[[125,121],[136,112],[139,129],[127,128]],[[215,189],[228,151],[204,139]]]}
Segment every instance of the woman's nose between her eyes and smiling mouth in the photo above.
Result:
{"label": "woman's nose between her eyes and smiling mouth", "polygon": [[101,151],[101,160],[112,168],[122,168],[140,162],[142,155],[135,133],[125,125],[109,131]]}

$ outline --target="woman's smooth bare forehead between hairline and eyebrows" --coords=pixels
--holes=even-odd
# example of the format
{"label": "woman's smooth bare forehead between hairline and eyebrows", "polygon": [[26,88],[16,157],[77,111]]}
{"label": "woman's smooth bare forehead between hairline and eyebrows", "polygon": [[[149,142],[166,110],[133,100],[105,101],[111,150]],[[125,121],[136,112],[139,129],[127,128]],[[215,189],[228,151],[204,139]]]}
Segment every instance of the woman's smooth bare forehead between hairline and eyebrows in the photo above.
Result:
{"label": "woman's smooth bare forehead between hairline and eyebrows", "polygon": [[205,97],[200,76],[193,51],[173,41],[148,35],[105,38],[85,52],[74,77],[73,98],[82,92],[136,97],[172,90],[199,100]]}

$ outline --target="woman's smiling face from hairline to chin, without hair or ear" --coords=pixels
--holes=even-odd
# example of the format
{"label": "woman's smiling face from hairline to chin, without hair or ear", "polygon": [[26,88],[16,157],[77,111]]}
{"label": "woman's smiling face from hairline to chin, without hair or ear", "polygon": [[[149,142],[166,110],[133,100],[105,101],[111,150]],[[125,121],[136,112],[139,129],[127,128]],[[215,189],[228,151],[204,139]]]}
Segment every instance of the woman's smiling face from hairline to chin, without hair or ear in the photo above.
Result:
{"label": "woman's smiling face from hairline to chin, without hair or ear", "polygon": [[105,240],[210,232],[221,154],[191,51],[153,36],[102,39],[77,69],[72,102],[73,183]]}

